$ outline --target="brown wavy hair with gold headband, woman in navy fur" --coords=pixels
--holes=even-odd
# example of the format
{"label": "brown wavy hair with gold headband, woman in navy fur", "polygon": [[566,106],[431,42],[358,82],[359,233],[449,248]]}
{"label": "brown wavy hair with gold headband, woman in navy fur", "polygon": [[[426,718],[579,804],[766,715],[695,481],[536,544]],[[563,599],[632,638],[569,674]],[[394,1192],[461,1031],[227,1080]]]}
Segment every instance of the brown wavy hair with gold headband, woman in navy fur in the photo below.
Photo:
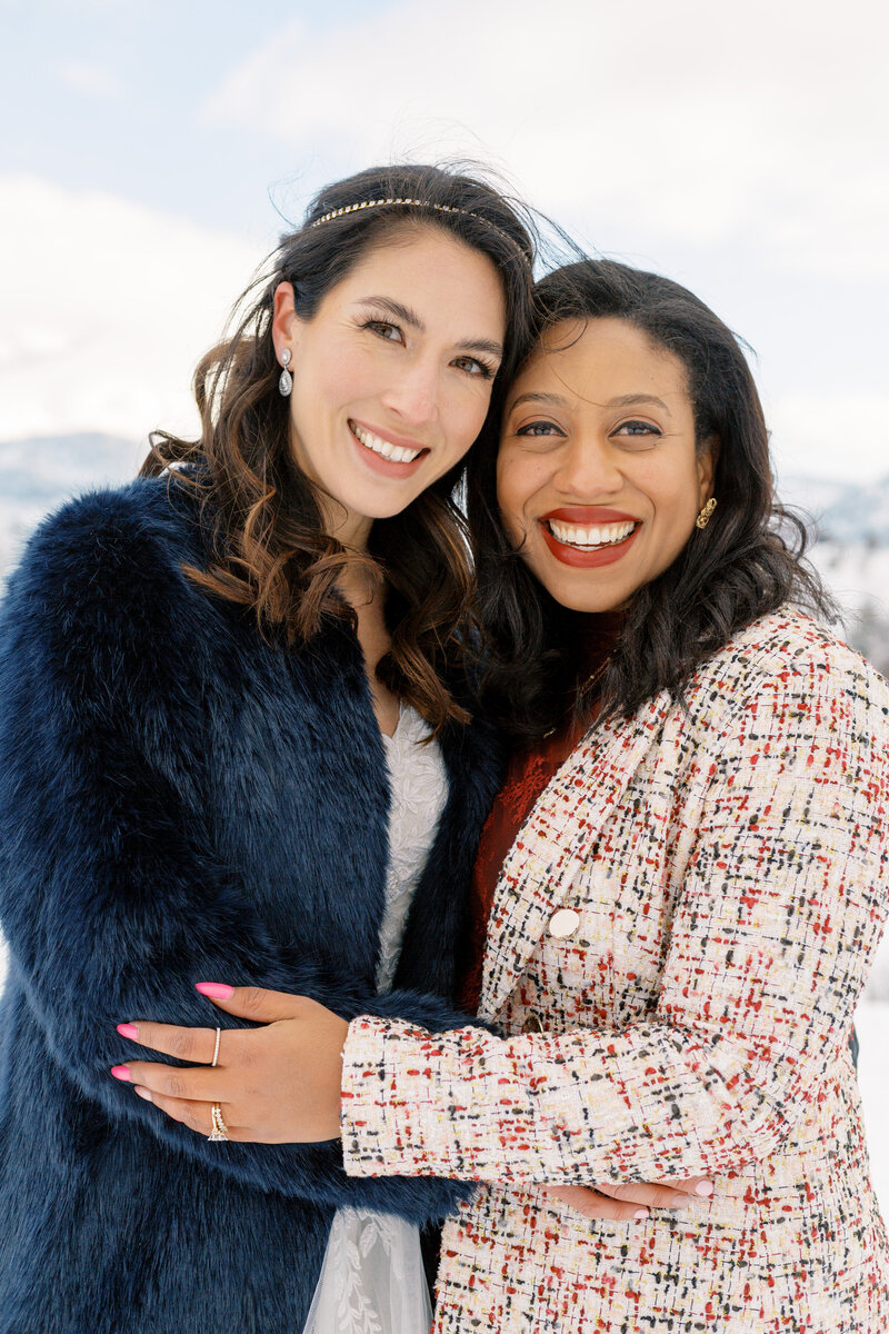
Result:
{"label": "brown wavy hair with gold headband, woman in navy fur", "polygon": [[[387,203],[312,225],[349,204],[399,199],[425,207]],[[200,438],[184,440],[165,431],[151,436],[141,475],[171,470],[172,482],[200,496],[211,554],[205,570],[188,568],[189,578],[219,598],[252,608],[260,632],[271,640],[304,643],[329,618],[355,626],[355,611],[337,591],[337,579],[348,562],[363,559],[325,532],[321,492],[293,460],[289,410],[279,394],[281,368],[272,344],[275,291],[283,281],[292,283],[296,312],[309,320],[371,248],[417,228],[457,237],[486,255],[500,275],[505,355],[480,435],[493,448],[504,386],[526,354],[532,324],[534,243],[528,213],[476,175],[413,164],[371,168],[315,196],[303,225],[281,237],[241,296],[233,331],[195,372]],[[464,468],[461,462],[401,514],[377,519],[364,558],[369,572],[388,586],[392,648],[377,675],[435,732],[450,719],[468,718],[448,684],[461,675],[473,639],[469,542],[453,499]]]}

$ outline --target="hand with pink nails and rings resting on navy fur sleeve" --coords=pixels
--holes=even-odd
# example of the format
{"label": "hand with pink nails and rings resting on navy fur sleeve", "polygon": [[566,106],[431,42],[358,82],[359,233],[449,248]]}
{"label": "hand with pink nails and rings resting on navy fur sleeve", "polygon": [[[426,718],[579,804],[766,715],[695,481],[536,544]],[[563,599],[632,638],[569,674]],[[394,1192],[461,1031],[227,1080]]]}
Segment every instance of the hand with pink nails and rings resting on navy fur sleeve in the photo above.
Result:
{"label": "hand with pink nails and rings resting on navy fur sleeve", "polygon": [[224,1029],[212,1069],[216,1029],[143,1019],[119,1025],[124,1038],[196,1065],[183,1070],[128,1061],[115,1066],[115,1078],[129,1081],[140,1098],[201,1135],[209,1137],[211,1109],[219,1103],[229,1139],[264,1145],[336,1139],[345,1019],[283,991],[216,982],[199,982],[197,990],[220,1010],[265,1027]]}

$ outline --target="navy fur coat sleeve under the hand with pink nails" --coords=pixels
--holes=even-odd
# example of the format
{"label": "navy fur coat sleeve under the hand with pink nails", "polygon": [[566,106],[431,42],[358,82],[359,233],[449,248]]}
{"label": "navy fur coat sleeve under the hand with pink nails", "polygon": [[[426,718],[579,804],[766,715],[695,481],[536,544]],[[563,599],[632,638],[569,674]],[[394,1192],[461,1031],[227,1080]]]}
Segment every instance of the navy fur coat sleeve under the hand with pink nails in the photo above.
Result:
{"label": "navy fur coat sleeve under the hand with pink nails", "polygon": [[164,532],[163,511],[148,519],[115,496],[61,511],[32,539],[0,611],[0,919],[16,1003],[28,1011],[17,1031],[36,1022],[43,1034],[16,1059],[32,1063],[35,1081],[63,1081],[95,1102],[97,1117],[137,1122],[248,1185],[441,1217],[465,1186],[417,1193],[417,1182],[391,1181],[368,1193],[345,1177],[339,1142],[232,1142],[220,1154],[109,1075],[120,1022],[239,1026],[197,996],[200,979],[308,994],[345,1018],[367,1009],[432,1027],[460,1018],[435,996],[335,986],[252,908],[205,810],[209,636],[195,615],[209,600],[185,583],[180,530]]}

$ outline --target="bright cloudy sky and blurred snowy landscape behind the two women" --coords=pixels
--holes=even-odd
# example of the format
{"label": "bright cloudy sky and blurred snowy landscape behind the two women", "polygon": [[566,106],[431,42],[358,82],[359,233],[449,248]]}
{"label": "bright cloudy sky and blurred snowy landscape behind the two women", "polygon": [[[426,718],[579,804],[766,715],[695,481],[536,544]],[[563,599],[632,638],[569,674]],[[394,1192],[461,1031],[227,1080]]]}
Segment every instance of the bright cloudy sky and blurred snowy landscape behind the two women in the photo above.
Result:
{"label": "bright cloudy sky and blurred snowy landscape behind the two women", "polygon": [[[877,0],[0,0],[0,579],[196,430],[195,364],[319,185],[468,157],[746,339],[781,494],[889,671],[888,36]],[[857,1026],[889,1209],[889,946]]]}

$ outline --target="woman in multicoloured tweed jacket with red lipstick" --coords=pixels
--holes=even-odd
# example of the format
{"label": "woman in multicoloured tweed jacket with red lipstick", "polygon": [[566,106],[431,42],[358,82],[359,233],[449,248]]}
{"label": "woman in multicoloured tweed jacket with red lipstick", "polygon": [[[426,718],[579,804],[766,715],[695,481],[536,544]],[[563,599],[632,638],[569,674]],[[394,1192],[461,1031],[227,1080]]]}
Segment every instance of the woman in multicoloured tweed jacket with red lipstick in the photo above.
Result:
{"label": "woman in multicoloured tweed jacket with red lipstick", "polygon": [[[445,1227],[441,1334],[877,1334],[889,1249],[849,1033],[886,914],[889,688],[800,610],[824,600],[773,528],[725,325],[610,263],[540,297],[470,482],[482,694],[521,743],[477,866],[498,1033],[223,1007],[291,1026],[276,1134],[340,1133],[356,1177],[481,1183]],[[133,1073],[181,1114],[163,1066]],[[229,1097],[264,1138],[275,1073]],[[680,1213],[565,1202],[692,1174],[716,1189]]]}

